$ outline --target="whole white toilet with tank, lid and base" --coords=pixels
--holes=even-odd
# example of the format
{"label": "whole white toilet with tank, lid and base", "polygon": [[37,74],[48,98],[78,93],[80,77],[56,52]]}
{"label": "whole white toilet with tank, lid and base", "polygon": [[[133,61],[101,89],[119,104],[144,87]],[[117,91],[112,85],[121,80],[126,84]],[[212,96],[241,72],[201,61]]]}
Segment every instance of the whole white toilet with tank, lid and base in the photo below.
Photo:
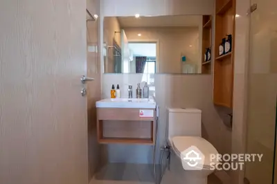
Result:
{"label": "whole white toilet with tank, lid and base", "polygon": [[[208,175],[213,173],[210,164],[216,164],[216,160],[211,161],[210,156],[218,152],[210,142],[202,138],[201,113],[199,109],[168,109],[167,138],[171,156],[170,169],[165,173],[166,183],[206,184]],[[193,149],[197,147],[194,151],[202,152],[202,157],[205,158],[201,162],[197,161],[194,168],[199,170],[190,170],[184,166],[191,160],[184,160],[184,154],[181,153],[192,146]]]}

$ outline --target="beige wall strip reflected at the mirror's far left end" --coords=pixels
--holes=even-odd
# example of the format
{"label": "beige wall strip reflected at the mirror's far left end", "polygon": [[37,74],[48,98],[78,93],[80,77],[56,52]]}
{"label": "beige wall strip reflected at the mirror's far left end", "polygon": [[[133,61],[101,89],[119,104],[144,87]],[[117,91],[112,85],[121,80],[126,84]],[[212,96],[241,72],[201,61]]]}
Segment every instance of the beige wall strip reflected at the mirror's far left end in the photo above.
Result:
{"label": "beige wall strip reflected at the mirror's far left end", "polygon": [[[120,33],[114,33],[115,31],[120,32],[120,25],[116,17],[105,17],[104,19],[104,44],[106,46],[113,46],[114,40],[120,46]],[[104,69],[105,73],[114,73],[114,48],[104,48]]]}

